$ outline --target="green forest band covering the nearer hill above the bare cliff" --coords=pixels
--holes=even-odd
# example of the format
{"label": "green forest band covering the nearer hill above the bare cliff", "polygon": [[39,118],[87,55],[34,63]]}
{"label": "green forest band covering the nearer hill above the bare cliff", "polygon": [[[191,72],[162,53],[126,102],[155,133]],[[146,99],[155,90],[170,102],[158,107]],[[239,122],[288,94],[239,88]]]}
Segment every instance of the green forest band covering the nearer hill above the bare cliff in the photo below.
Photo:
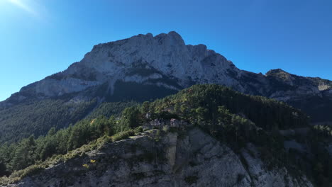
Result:
{"label": "green forest band covering the nearer hill above the bare cliff", "polygon": [[[128,106],[133,104],[135,105],[130,103]],[[91,116],[110,115],[107,108],[112,108],[111,106],[105,104],[99,108],[100,112],[92,113]],[[118,103],[118,108],[122,106]],[[284,149],[284,141],[289,137],[282,137],[278,130],[309,128],[306,115],[280,101],[240,94],[214,84],[192,86],[179,91],[178,94],[126,108],[118,120],[114,115],[99,115],[81,120],[64,130],[56,131],[52,128],[45,137],[35,139],[31,136],[21,142],[4,145],[0,148],[1,174],[9,175],[31,164],[62,157],[61,154],[89,142],[92,143],[86,147],[95,149],[101,142],[121,140],[141,132],[143,128],[140,126],[151,120],[171,118],[201,128],[216,140],[225,142],[235,152],[248,143],[253,143],[260,147],[260,157],[268,167],[285,166],[287,163],[287,168],[294,171],[294,175],[307,174],[321,185],[331,183],[328,180],[332,179],[331,157],[319,146],[319,142],[326,140],[322,139],[321,132],[312,129],[307,137],[294,137],[297,141],[306,141],[311,157],[294,152],[293,149]],[[286,160],[288,162],[285,162]],[[297,165],[298,162],[301,164]],[[325,165],[322,165],[323,163]],[[43,165],[32,167],[32,171],[35,171],[35,168],[37,171],[43,170]],[[316,172],[317,169],[319,172]],[[26,176],[31,172],[31,167],[20,172],[14,172],[13,176]]]}

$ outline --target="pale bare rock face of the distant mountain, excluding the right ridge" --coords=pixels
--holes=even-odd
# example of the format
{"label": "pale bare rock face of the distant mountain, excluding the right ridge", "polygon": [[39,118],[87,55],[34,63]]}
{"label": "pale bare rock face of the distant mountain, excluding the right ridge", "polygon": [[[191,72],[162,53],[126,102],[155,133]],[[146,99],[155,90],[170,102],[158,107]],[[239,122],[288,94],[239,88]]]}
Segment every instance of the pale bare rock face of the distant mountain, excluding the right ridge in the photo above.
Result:
{"label": "pale bare rock face of the distant mountain, excluding the right ridge", "polygon": [[[64,72],[21,89],[43,96],[62,96],[116,81],[155,84],[179,90],[192,84],[225,84],[245,91],[237,81],[240,70],[205,45],[185,45],[175,32],[136,35],[95,45],[81,62]],[[165,81],[168,80],[168,81]],[[169,81],[171,80],[171,81]]]}

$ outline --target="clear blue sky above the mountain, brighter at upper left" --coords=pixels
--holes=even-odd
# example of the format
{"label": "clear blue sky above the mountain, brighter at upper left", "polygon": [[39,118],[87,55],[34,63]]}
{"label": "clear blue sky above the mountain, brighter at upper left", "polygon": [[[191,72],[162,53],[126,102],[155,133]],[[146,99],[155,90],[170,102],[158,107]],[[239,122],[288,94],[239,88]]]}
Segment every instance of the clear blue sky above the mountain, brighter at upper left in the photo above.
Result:
{"label": "clear blue sky above the mountain, brighter at upper left", "polygon": [[0,0],[0,101],[93,45],[177,31],[240,69],[332,79],[331,0]]}

